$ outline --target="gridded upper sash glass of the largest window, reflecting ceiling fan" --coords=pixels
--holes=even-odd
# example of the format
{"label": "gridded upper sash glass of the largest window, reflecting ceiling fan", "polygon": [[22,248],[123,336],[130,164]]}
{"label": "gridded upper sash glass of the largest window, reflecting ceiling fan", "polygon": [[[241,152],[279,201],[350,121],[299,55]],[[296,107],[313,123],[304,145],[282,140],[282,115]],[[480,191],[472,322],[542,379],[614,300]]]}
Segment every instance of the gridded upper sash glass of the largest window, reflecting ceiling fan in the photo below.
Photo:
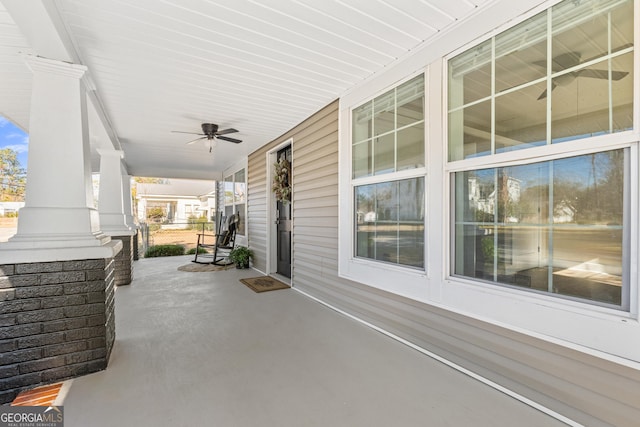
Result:
{"label": "gridded upper sash glass of the largest window, reflecting ceiling fan", "polygon": [[449,60],[449,160],[632,129],[633,6],[565,0]]}

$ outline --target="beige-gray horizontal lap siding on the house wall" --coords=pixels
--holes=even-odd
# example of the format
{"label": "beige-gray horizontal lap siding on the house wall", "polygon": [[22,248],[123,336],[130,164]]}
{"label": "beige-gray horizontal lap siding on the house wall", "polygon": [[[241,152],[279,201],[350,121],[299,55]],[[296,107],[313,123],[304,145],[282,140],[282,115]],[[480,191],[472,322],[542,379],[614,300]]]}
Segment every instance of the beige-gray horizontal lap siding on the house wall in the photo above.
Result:
{"label": "beige-gray horizontal lap siding on the house wall", "polygon": [[640,372],[338,277],[338,102],[249,157],[249,241],[266,268],[265,153],[293,138],[295,288],[589,426],[637,426]]}

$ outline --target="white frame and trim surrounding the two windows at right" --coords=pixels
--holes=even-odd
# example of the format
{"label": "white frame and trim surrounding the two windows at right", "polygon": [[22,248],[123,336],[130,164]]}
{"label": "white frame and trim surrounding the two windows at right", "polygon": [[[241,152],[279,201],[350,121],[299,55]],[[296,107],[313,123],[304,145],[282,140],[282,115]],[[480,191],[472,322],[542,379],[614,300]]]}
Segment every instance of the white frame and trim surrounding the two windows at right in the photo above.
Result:
{"label": "white frame and trim surrounding the two windows at right", "polygon": [[[630,270],[630,311],[623,312],[607,307],[566,300],[552,295],[523,292],[518,289],[479,284],[475,280],[452,277],[450,233],[451,182],[450,176],[462,170],[465,164],[448,162],[447,138],[447,60],[496,34],[552,7],[560,0],[521,3],[500,3],[488,6],[480,18],[469,20],[465,34],[442,37],[427,49],[416,49],[411,55],[384,72],[354,87],[340,98],[339,116],[339,253],[338,274],[356,281],[353,286],[369,286],[391,292],[401,297],[424,302],[428,305],[458,313],[488,324],[497,325],[545,341],[574,348],[580,352],[616,363],[640,363],[640,189],[629,193],[631,235],[628,253]],[[634,19],[640,22],[640,0],[634,0]],[[637,25],[637,24],[636,24]],[[640,31],[634,35],[634,130],[622,134],[604,135],[580,140],[583,151],[573,155],[630,146],[640,141]],[[425,120],[426,120],[426,272],[401,271],[389,265],[363,264],[354,260],[353,211],[351,187],[351,109],[394,87],[398,82],[425,71]],[[620,139],[621,138],[621,139]],[[564,144],[564,143],[563,143]],[[538,160],[563,156],[563,144],[530,148],[526,151]],[[575,148],[575,147],[574,147]],[[630,182],[640,180],[640,148],[632,148]],[[508,165],[521,161],[523,153],[504,152],[494,155],[495,165]],[[478,159],[469,159],[467,166]],[[475,166],[479,166],[480,163]],[[435,206],[431,209],[431,206]],[[443,212],[444,211],[444,212]],[[349,282],[343,282],[348,284]],[[366,287],[365,286],[365,287]],[[393,299],[394,297],[391,296]],[[419,306],[416,306],[419,309]]]}

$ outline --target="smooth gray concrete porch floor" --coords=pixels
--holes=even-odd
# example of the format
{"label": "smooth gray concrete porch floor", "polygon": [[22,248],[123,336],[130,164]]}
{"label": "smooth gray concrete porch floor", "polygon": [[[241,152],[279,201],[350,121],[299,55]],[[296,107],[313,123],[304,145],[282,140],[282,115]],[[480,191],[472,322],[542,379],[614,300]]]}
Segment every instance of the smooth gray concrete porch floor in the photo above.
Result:
{"label": "smooth gray concrete porch floor", "polygon": [[136,261],[116,292],[106,371],[73,381],[65,425],[565,424],[253,270],[188,273],[192,256]]}

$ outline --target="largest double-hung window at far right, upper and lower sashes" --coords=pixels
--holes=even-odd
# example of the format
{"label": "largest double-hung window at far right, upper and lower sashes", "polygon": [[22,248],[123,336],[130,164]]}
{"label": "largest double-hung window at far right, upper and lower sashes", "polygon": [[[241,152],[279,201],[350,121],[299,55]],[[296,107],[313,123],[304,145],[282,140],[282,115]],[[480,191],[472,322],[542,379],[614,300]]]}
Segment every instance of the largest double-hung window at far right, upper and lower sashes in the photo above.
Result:
{"label": "largest double-hung window at far right, upper and lower sashes", "polygon": [[454,275],[629,308],[633,31],[565,0],[449,61]]}

